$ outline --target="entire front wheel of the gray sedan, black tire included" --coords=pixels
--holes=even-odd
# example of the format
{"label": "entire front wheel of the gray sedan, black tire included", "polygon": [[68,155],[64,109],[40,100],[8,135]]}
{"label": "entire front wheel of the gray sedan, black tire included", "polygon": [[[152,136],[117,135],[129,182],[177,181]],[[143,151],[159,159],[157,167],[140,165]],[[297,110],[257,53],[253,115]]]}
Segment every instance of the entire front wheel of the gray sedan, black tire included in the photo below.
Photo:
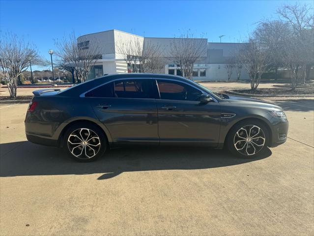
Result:
{"label": "entire front wheel of the gray sedan, black tire included", "polygon": [[[252,134],[250,135],[250,133]],[[247,135],[251,138],[244,139],[243,137]],[[269,137],[268,128],[264,123],[254,119],[243,120],[230,129],[227,137],[227,147],[233,155],[238,157],[255,158],[263,155],[267,150]]]}

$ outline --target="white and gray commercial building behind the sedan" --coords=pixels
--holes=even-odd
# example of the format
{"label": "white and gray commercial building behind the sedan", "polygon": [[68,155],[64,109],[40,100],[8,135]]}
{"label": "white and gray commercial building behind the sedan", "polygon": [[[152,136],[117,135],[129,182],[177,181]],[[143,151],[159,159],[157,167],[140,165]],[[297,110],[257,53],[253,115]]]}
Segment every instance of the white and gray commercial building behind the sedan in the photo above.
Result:
{"label": "white and gray commercial building behind the sedan", "polygon": [[[104,74],[127,73],[128,68],[125,60],[125,55],[119,54],[118,47],[121,43],[136,41],[138,44],[145,43],[158,44],[162,49],[161,56],[167,58],[165,64],[165,73],[181,75],[180,68],[177,67],[171,58],[169,58],[169,48],[171,43],[176,38],[152,38],[142,37],[139,35],[122,32],[119,30],[107,30],[103,32],[90,33],[78,37],[77,41],[80,47],[86,47],[93,42],[100,50],[101,59],[97,61],[89,74],[89,78],[97,78]],[[227,70],[225,64],[239,50],[241,44],[239,43],[208,43],[206,38],[200,40],[200,45],[203,48],[203,55],[199,61],[194,65],[193,79],[197,81],[217,81],[228,80]],[[231,80],[236,80],[237,75],[235,70],[232,73]],[[242,68],[241,80],[248,80],[248,74]]]}

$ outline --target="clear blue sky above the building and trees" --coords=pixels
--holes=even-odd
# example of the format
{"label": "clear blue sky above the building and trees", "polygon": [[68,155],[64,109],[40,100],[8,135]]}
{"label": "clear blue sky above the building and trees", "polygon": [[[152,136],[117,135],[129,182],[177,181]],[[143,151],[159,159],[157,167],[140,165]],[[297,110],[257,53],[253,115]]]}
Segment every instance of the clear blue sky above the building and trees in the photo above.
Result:
{"label": "clear blue sky above the building and trees", "polygon": [[[148,37],[173,37],[188,29],[209,42],[238,42],[258,21],[276,18],[286,0],[222,1],[28,1],[0,0],[1,33],[12,31],[36,45],[49,59],[54,40],[118,29]],[[300,1],[313,5],[313,0]]]}

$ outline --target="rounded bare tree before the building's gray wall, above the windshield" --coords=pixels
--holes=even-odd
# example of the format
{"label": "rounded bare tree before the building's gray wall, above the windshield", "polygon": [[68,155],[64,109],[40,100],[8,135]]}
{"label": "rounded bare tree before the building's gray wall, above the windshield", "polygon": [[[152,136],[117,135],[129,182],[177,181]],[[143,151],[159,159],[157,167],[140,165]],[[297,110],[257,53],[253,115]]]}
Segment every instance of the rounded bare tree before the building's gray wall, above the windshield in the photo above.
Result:
{"label": "rounded bare tree before the building's gray wall, above the windshield", "polygon": [[171,43],[170,58],[179,65],[182,75],[192,80],[194,63],[199,60],[207,49],[207,41],[201,38],[194,38],[188,31],[180,38],[174,38]]}

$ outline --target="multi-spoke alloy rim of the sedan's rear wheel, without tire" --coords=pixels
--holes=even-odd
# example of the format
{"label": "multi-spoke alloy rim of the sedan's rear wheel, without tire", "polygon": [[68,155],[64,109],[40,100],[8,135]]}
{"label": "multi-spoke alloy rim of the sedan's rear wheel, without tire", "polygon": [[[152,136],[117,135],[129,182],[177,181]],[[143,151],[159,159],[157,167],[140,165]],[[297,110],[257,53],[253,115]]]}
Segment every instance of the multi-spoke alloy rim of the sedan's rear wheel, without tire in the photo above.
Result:
{"label": "multi-spoke alloy rim of the sedan's rear wheel, without tire", "polygon": [[100,150],[98,135],[87,128],[74,130],[68,138],[68,148],[72,155],[80,159],[94,157]]}

